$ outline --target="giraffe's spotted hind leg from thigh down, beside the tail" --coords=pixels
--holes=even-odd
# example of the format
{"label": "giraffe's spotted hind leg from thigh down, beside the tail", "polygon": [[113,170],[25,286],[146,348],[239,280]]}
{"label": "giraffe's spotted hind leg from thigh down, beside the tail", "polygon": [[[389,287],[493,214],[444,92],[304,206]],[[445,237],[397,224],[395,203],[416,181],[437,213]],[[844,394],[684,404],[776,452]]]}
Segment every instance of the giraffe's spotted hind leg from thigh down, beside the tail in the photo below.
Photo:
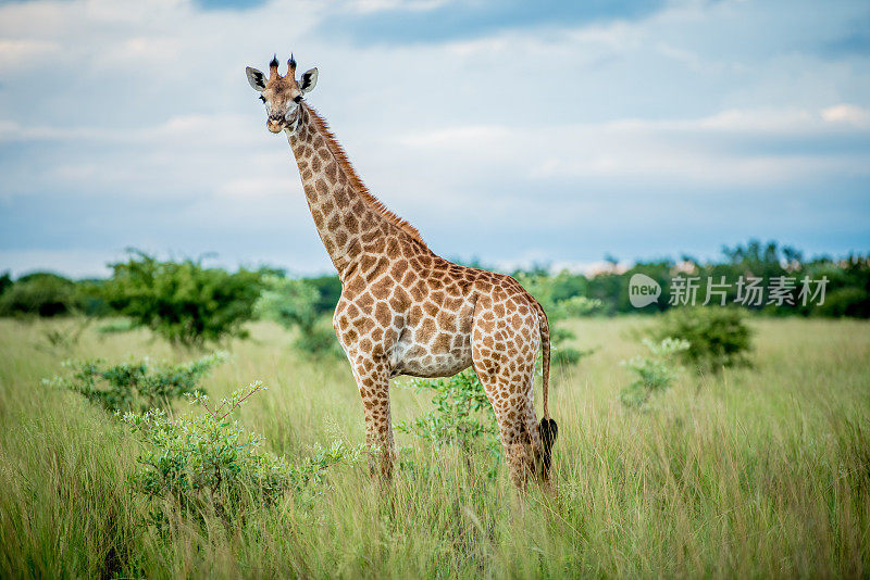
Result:
{"label": "giraffe's spotted hind leg from thigh down, beside the tail", "polygon": [[533,400],[537,344],[531,320],[511,326],[487,310],[475,313],[474,370],[493,404],[511,481],[520,489],[535,472],[540,447]]}

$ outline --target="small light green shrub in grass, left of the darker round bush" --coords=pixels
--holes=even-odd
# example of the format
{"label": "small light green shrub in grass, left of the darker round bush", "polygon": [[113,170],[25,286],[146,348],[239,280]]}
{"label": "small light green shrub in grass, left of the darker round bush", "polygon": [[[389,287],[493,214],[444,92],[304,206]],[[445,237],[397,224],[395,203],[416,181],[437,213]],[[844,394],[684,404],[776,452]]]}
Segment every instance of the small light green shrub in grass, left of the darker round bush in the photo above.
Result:
{"label": "small light green shrub in grass, left of the darker round bush", "polygon": [[666,338],[658,344],[644,339],[644,344],[651,356],[637,355],[620,363],[637,375],[634,382],[620,393],[620,399],[626,406],[643,406],[652,393],[668,389],[680,371],[673,365],[673,358],[691,348],[687,341],[673,338]]}

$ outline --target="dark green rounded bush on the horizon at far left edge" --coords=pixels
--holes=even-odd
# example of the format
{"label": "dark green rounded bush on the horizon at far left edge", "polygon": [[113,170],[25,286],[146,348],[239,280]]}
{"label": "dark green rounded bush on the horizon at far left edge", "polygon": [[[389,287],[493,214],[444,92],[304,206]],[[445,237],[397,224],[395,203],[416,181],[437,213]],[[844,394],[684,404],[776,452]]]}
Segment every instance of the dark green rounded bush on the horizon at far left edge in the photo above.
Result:
{"label": "dark green rounded bush on the horizon at far left edge", "polygon": [[0,295],[0,316],[60,316],[79,310],[75,282],[57,274],[23,276]]}

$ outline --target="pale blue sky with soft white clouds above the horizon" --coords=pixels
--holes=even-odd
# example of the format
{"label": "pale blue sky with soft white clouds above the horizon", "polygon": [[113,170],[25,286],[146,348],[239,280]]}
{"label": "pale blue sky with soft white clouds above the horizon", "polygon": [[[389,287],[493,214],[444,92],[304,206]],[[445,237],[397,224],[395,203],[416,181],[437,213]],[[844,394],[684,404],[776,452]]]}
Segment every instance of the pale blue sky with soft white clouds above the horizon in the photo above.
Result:
{"label": "pale blue sky with soft white clouds above the horizon", "polygon": [[290,51],[442,255],[870,250],[866,1],[65,0],[0,2],[0,270],[328,272],[245,79]]}

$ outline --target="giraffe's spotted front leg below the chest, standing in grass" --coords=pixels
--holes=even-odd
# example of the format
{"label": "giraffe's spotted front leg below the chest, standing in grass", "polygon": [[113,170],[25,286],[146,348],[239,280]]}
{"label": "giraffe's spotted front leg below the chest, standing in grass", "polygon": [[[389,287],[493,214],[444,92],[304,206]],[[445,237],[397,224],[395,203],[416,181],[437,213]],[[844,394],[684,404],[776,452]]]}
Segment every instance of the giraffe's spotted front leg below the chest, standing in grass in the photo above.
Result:
{"label": "giraffe's spotted front leg below the chest, standing in grass", "polygon": [[352,364],[365,416],[365,444],[371,447],[369,468],[373,476],[388,480],[396,457],[389,419],[389,368],[386,361],[371,358]]}

